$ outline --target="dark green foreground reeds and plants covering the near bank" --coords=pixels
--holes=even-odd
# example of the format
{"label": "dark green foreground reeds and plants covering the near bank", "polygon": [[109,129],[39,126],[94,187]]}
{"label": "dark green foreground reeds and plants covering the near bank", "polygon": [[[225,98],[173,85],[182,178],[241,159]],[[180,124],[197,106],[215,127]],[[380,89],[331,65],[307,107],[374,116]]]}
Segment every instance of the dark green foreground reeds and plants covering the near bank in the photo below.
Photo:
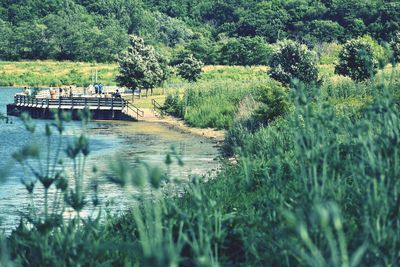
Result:
{"label": "dark green foreground reeds and plants covering the near bank", "polygon": [[[131,211],[63,222],[40,217],[46,213],[36,207],[41,219],[12,233],[3,259],[25,266],[395,266],[400,79],[392,71],[363,83],[334,80],[321,90],[301,84],[288,90],[260,74],[264,86],[249,86],[240,99],[223,147],[236,162],[224,164],[217,177],[192,177],[183,196],[168,196],[160,188],[179,182],[173,174],[117,161],[107,173],[110,181],[143,188],[132,196]],[[317,92],[312,99],[309,91]],[[251,99],[253,92],[258,94]],[[62,131],[67,119],[46,126],[45,133]],[[24,120],[34,131],[32,121]],[[77,137],[68,157],[86,156],[85,144],[85,137]],[[29,163],[37,156],[26,147],[14,158]],[[172,150],[165,164],[184,162]],[[62,187],[63,175],[40,177],[44,186],[64,190],[67,197],[58,201],[78,212],[79,203],[101,201],[86,196],[81,202],[73,184],[71,191]]]}

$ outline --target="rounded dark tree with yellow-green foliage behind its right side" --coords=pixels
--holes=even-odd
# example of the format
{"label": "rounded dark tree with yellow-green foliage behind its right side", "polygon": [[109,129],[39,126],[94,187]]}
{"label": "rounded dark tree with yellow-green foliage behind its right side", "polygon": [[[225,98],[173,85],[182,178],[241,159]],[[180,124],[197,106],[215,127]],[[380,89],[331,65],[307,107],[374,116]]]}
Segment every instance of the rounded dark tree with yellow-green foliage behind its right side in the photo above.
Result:
{"label": "rounded dark tree with yellow-green foliage behind its right side", "polygon": [[371,78],[376,73],[376,67],[371,45],[362,39],[352,39],[343,45],[335,73],[360,82]]}

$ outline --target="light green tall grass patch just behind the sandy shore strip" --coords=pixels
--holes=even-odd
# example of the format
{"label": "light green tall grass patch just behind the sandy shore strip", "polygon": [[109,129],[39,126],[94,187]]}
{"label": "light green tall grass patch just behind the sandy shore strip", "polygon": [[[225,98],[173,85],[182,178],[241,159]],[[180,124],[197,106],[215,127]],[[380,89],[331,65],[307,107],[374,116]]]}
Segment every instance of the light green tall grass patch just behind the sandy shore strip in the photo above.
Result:
{"label": "light green tall grass patch just behind the sandy shore strip", "polygon": [[181,97],[167,100],[165,109],[194,127],[228,129],[240,100],[261,84],[271,82],[265,68],[210,69],[200,81],[186,85]]}

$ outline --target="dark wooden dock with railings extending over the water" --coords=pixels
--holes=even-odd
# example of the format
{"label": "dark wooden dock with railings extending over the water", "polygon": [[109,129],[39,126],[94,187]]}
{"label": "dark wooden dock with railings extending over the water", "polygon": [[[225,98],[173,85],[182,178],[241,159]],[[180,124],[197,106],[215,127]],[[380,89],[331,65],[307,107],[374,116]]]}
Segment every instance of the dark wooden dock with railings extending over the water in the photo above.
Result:
{"label": "dark wooden dock with railings extending over the water", "polygon": [[25,95],[14,97],[14,103],[7,105],[7,115],[20,116],[26,112],[32,118],[51,119],[54,112],[70,112],[73,119],[79,119],[79,112],[83,109],[89,109],[94,120],[138,121],[144,116],[143,110],[123,98],[81,96],[49,99]]}

